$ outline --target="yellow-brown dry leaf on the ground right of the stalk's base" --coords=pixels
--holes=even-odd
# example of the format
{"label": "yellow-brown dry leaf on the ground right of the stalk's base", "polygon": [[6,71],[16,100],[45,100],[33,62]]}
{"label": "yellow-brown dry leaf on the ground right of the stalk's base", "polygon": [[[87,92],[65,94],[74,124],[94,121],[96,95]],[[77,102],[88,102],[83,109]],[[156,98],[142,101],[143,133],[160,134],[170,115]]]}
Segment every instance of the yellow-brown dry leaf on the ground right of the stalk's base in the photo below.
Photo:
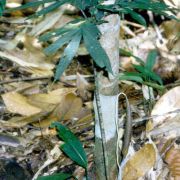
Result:
{"label": "yellow-brown dry leaf on the ground right of the stalk's base", "polygon": [[156,161],[156,152],[152,144],[146,144],[126,163],[123,180],[136,180],[144,176]]}

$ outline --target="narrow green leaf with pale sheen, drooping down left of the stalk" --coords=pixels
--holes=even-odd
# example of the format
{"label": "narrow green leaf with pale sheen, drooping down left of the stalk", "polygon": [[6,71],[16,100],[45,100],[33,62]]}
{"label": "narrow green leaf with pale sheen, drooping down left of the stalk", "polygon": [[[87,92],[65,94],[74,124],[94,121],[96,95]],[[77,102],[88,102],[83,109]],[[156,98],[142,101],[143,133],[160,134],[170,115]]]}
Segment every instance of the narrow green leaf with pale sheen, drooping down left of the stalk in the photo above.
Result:
{"label": "narrow green leaf with pale sheen, drooping down left of the stalk", "polygon": [[73,39],[70,41],[68,46],[64,50],[64,55],[60,59],[58,66],[56,67],[56,73],[55,73],[55,81],[59,80],[60,76],[63,74],[65,69],[69,66],[71,63],[73,57],[76,55],[76,52],[78,50],[80,41],[82,38],[82,34],[79,31],[76,33],[73,37]]}

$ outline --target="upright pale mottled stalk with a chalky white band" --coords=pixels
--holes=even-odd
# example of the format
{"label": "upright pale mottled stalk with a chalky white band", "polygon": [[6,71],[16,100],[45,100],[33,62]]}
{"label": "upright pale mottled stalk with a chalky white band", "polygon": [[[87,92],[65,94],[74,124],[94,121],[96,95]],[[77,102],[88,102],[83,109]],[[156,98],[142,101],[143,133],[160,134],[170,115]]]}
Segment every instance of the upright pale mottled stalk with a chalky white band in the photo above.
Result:
{"label": "upright pale mottled stalk with a chalky white band", "polygon": [[[112,4],[114,0],[105,1],[105,4]],[[117,179],[118,168],[116,162],[116,120],[118,118],[118,81],[116,75],[119,72],[119,29],[120,17],[112,14],[107,16],[104,23],[99,26],[102,33],[100,43],[105,49],[111,63],[113,74],[109,74],[108,78],[98,74],[98,89],[99,100],[97,109],[96,101],[94,100],[95,110],[95,167],[97,180]],[[99,108],[99,107],[98,107]],[[102,133],[100,130],[98,110],[101,111],[106,140],[106,156],[103,157]],[[108,161],[107,162],[104,162]],[[107,168],[104,168],[104,164]],[[105,170],[106,169],[106,170]],[[108,172],[106,172],[108,169]],[[107,176],[105,176],[105,174]]]}

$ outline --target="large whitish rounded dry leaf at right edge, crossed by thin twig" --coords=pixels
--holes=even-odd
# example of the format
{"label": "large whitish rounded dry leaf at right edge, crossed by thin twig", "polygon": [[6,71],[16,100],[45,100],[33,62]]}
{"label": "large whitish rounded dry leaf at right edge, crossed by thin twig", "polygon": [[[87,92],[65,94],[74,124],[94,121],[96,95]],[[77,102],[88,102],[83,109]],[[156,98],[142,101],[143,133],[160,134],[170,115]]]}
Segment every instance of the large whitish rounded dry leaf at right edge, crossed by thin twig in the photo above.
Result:
{"label": "large whitish rounded dry leaf at right edge, crossed by thin twig", "polygon": [[180,86],[165,93],[155,104],[147,123],[148,134],[155,138],[159,151],[170,139],[180,136]]}

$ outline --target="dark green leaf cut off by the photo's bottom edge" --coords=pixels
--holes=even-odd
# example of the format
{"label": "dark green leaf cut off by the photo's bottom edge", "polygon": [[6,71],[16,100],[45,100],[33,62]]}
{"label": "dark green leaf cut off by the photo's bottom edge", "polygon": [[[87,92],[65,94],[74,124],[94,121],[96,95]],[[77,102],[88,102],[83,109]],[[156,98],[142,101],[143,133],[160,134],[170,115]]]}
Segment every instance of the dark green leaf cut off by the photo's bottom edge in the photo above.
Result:
{"label": "dark green leaf cut off by the photo's bottom edge", "polygon": [[50,176],[40,176],[37,178],[37,180],[66,180],[72,177],[72,174],[57,173]]}

